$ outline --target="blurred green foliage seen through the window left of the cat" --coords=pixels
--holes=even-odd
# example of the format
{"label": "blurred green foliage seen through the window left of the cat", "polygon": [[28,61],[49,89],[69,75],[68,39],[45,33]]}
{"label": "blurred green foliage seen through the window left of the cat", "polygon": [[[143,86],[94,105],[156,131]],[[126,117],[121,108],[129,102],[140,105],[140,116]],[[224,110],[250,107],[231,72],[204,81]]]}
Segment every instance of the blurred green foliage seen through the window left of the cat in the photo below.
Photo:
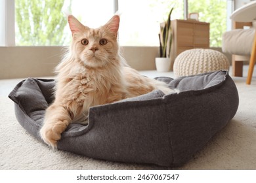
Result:
{"label": "blurred green foliage seen through the window left of the cat", "polygon": [[63,5],[64,0],[16,0],[16,45],[63,45],[67,24]]}

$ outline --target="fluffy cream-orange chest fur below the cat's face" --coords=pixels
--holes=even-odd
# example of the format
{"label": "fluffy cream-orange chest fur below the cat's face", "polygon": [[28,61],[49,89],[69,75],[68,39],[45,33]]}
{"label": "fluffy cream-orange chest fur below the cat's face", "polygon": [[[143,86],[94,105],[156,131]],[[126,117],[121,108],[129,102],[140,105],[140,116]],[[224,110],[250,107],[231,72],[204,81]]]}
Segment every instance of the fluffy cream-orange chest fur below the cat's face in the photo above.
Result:
{"label": "fluffy cream-orange chest fur below the cat's face", "polygon": [[121,83],[120,76],[109,75],[106,71],[85,71],[62,79],[58,87],[64,89],[60,95],[70,103],[88,110],[95,105],[124,99],[126,90]]}

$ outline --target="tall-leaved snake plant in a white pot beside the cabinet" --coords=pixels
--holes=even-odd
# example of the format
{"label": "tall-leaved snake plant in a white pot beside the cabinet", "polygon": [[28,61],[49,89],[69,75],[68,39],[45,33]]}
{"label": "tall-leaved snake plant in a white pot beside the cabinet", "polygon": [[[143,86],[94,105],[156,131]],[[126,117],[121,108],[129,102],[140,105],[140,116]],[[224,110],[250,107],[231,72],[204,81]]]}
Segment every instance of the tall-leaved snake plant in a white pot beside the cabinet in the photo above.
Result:
{"label": "tall-leaved snake plant in a white pot beside the cabinet", "polygon": [[158,34],[160,41],[160,58],[156,58],[156,69],[160,72],[167,72],[171,65],[171,43],[173,40],[171,33],[171,8],[166,22],[160,24],[160,33]]}

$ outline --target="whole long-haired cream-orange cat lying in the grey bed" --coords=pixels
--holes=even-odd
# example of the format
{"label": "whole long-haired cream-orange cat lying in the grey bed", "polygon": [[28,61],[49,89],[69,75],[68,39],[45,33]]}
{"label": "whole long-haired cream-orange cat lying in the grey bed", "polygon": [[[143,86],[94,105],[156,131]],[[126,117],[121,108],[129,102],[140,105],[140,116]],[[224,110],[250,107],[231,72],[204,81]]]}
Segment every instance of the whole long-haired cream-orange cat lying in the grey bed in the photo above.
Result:
{"label": "whole long-haired cream-orange cat lying in the grey bed", "polygon": [[68,16],[72,43],[56,67],[55,99],[46,109],[40,135],[56,148],[61,133],[74,122],[88,123],[89,108],[136,97],[159,89],[174,93],[167,84],[142,76],[119,54],[117,33],[120,18],[91,29]]}

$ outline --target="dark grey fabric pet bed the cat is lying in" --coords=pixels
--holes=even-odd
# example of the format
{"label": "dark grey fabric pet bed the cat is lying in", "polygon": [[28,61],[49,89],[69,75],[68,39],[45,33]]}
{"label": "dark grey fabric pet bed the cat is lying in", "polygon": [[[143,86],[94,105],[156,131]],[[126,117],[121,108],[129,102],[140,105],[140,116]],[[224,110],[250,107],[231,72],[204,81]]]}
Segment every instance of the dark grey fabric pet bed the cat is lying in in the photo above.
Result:
{"label": "dark grey fabric pet bed the cat is lying in", "polygon": [[[89,125],[69,125],[58,149],[96,159],[177,167],[236,114],[238,92],[227,71],[156,79],[181,92],[153,91],[92,107]],[[37,139],[45,108],[54,99],[53,86],[54,80],[28,78],[9,95],[18,122]]]}

